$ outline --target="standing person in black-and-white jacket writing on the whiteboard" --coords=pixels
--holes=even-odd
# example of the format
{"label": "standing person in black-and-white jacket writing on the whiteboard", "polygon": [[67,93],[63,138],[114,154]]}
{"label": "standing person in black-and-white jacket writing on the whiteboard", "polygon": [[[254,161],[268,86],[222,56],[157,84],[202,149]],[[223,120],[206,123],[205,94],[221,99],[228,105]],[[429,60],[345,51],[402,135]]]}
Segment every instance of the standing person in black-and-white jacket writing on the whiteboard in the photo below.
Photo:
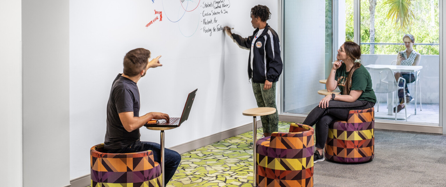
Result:
{"label": "standing person in black-and-white jacket writing on the whiteboard", "polygon": [[276,82],[282,73],[282,59],[279,36],[266,20],[271,17],[269,8],[256,5],[251,8],[251,24],[255,28],[252,36],[243,38],[233,34],[229,27],[224,29],[242,47],[250,49],[248,58],[248,77],[252,79],[252,90],[258,107],[273,107],[276,113],[262,116],[265,137],[278,131],[279,115],[276,106]]}

